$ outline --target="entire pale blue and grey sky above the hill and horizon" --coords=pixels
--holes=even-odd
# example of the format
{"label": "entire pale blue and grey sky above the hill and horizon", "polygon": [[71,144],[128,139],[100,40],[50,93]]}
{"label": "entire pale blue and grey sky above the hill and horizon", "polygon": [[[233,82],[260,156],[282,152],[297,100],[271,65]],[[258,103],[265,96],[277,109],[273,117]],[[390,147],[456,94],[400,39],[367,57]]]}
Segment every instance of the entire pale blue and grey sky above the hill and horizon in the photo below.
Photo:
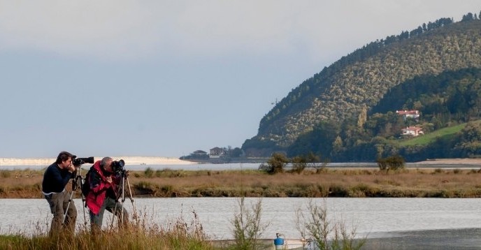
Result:
{"label": "entire pale blue and grey sky above the hill and horizon", "polygon": [[479,0],[0,0],[0,157],[241,147],[304,80]]}

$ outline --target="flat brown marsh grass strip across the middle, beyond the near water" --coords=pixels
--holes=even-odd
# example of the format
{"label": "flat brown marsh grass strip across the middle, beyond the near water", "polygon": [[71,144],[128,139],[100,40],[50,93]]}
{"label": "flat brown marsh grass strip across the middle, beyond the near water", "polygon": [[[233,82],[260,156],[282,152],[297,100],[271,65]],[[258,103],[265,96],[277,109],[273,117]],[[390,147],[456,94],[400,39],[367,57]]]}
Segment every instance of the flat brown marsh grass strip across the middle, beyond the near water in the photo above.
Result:
{"label": "flat brown marsh grass strip across the middle, beyond the near water", "polygon": [[[480,170],[440,168],[384,172],[306,169],[268,175],[257,170],[130,172],[135,197],[481,197]],[[43,198],[43,172],[0,170],[0,198]],[[69,185],[70,187],[71,185]],[[76,193],[80,195],[80,191]]]}

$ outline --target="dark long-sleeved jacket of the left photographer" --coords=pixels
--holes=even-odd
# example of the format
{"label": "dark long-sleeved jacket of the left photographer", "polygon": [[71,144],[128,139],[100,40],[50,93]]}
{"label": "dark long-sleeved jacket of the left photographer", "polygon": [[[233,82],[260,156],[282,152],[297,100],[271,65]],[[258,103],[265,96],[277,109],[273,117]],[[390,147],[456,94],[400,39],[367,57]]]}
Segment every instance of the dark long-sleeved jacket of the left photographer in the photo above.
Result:
{"label": "dark long-sleeved jacket of the left photographer", "polygon": [[43,193],[61,193],[73,177],[73,173],[68,169],[61,169],[57,163],[52,163],[43,174],[42,191]]}

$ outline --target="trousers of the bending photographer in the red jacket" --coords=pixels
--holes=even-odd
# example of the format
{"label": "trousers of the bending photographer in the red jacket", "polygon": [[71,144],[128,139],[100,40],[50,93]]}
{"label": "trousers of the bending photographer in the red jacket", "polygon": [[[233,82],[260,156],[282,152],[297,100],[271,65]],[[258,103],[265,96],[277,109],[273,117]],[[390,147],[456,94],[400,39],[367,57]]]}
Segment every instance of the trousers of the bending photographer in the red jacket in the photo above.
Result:
{"label": "trousers of the bending photographer in the red jacket", "polygon": [[[119,226],[127,225],[127,223],[129,223],[129,214],[127,214],[127,209],[122,207],[122,203],[120,203],[117,200],[114,200],[113,198],[106,197],[106,199],[103,200],[102,207],[100,207],[99,214],[94,214],[92,212],[89,212],[90,226],[92,227],[92,230],[100,230],[102,228],[103,212],[105,212],[105,210],[117,216],[117,219],[119,219]],[[122,221],[122,210],[123,210],[123,216],[124,216],[123,221]]]}

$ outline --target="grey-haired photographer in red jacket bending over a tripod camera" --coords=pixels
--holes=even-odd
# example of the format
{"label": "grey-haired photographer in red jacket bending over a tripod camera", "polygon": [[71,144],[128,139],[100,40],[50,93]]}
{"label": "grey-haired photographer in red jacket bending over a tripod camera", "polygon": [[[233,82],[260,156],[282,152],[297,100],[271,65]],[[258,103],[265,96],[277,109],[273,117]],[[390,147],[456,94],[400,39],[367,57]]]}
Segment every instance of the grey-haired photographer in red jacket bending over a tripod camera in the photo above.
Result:
{"label": "grey-haired photographer in red jacket bending over a tripod camera", "polygon": [[118,185],[122,176],[115,175],[112,162],[113,159],[110,157],[104,157],[101,161],[96,161],[85,177],[90,187],[85,197],[85,203],[89,208],[92,231],[102,228],[103,212],[106,209],[117,216],[119,225],[122,225],[122,223],[125,225],[129,220],[127,210],[122,207],[122,203],[118,201],[117,197]]}

